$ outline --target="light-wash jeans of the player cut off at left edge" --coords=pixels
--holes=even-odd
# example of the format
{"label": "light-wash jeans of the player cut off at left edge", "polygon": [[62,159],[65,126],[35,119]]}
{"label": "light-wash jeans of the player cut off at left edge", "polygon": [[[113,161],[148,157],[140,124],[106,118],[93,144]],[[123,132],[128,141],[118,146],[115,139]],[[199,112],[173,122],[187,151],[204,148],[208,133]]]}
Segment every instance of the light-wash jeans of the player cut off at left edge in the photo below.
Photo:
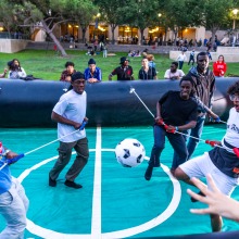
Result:
{"label": "light-wash jeans of the player cut off at left edge", "polygon": [[24,239],[28,204],[23,186],[12,177],[12,187],[0,194],[0,214],[7,221],[7,227],[0,234],[0,239]]}

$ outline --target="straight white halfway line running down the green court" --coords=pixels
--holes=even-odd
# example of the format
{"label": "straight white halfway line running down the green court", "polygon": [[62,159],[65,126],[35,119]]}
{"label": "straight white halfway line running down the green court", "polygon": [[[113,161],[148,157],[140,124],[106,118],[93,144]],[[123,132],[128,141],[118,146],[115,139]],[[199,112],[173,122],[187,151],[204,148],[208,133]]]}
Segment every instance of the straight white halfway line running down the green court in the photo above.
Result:
{"label": "straight white halfway line running down the green court", "polygon": [[101,127],[97,127],[91,238],[101,238]]}

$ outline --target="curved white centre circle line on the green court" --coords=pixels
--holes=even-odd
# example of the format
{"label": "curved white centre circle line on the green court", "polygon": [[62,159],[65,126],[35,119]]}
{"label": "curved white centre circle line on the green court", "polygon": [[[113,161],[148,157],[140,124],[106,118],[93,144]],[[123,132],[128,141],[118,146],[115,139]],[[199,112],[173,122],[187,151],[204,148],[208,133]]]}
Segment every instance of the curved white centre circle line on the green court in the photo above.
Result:
{"label": "curved white centre circle line on the green court", "polygon": [[[101,139],[101,138],[100,138]],[[99,141],[99,140],[98,140]],[[95,149],[90,149],[90,152],[95,152],[97,150]],[[99,150],[98,150],[99,151]],[[101,149],[101,152],[114,152],[114,149]],[[100,153],[101,153],[100,152]],[[99,153],[99,152],[98,152]],[[96,153],[96,155],[98,154]],[[75,152],[73,153],[75,154]],[[40,166],[56,160],[56,156],[52,156],[51,159],[48,160],[43,160],[40,163],[32,166],[30,168],[25,169],[18,177],[20,181],[23,181],[29,174],[30,172],[38,169]],[[146,160],[149,160],[148,156],[144,158]],[[100,161],[101,163],[101,161]],[[101,165],[100,165],[101,166]],[[29,230],[32,234],[37,235],[41,238],[45,239],[116,239],[116,238],[126,238],[126,237],[130,237],[130,236],[135,236],[137,234],[140,232],[144,232],[149,229],[152,229],[156,226],[159,226],[160,224],[162,224],[163,222],[165,222],[167,218],[169,218],[174,212],[176,211],[179,202],[180,202],[180,197],[181,197],[181,189],[180,189],[180,184],[178,180],[176,180],[169,173],[169,168],[163,164],[161,164],[163,171],[167,174],[167,176],[169,177],[169,179],[173,183],[173,198],[168,204],[168,206],[164,210],[164,212],[162,212],[160,215],[158,215],[156,217],[150,219],[147,223],[143,223],[141,225],[135,226],[135,227],[130,227],[127,229],[123,229],[123,230],[117,230],[117,231],[111,231],[111,232],[102,232],[101,234],[101,228],[100,230],[97,230],[97,232],[101,234],[99,235],[99,237],[92,237],[91,234],[62,234],[62,232],[58,232],[48,228],[43,228],[37,224],[35,224],[34,222],[32,222],[30,219],[27,218],[27,230]],[[100,171],[100,175],[101,175],[101,171]],[[96,177],[95,177],[96,178]],[[101,186],[100,186],[101,187]],[[101,191],[99,191],[100,196],[101,196]],[[101,201],[101,198],[99,199]],[[98,203],[99,205],[99,203]],[[101,209],[101,206],[99,207]],[[96,207],[93,210],[95,212],[97,212]],[[96,224],[99,226],[99,222],[98,224]],[[101,222],[100,222],[101,225]],[[92,226],[92,225],[91,225]],[[97,235],[97,232],[93,232],[95,235]]]}

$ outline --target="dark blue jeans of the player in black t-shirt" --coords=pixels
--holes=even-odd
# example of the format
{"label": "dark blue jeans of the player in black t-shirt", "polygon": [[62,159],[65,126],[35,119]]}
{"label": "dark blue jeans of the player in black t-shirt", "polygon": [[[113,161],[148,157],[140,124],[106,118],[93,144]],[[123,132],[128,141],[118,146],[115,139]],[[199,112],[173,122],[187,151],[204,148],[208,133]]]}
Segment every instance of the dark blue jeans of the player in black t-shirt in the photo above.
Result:
{"label": "dark blue jeans of the player in black t-shirt", "polygon": [[151,151],[149,165],[152,167],[160,166],[160,155],[165,147],[165,136],[169,140],[175,153],[178,158],[173,160],[172,168],[176,168],[179,164],[186,162],[188,158],[188,151],[186,147],[185,138],[178,134],[167,133],[163,127],[154,125],[153,127],[154,144]]}

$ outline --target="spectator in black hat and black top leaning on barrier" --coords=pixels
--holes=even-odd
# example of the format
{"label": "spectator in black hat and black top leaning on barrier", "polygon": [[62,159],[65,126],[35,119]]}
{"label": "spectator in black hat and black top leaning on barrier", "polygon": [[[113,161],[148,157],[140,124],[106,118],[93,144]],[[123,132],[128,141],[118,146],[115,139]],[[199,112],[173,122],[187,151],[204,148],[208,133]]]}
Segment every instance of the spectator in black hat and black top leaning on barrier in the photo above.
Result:
{"label": "spectator in black hat and black top leaning on barrier", "polygon": [[129,60],[126,56],[121,58],[121,66],[116,67],[110,75],[109,80],[112,80],[112,76],[117,75],[117,80],[133,80],[134,72],[133,67],[128,64]]}

